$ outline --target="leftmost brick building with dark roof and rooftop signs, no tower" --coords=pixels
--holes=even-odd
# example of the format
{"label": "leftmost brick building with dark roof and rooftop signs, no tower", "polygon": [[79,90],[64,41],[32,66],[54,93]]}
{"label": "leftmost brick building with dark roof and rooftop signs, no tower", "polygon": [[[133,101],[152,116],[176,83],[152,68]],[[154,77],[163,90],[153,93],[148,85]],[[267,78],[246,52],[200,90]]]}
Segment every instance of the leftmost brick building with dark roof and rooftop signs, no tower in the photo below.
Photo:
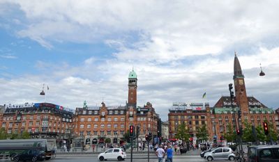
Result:
{"label": "leftmost brick building with dark roof and rooftop signs, no tower", "polygon": [[70,139],[73,111],[55,104],[9,104],[0,124],[7,133],[28,131],[31,138]]}

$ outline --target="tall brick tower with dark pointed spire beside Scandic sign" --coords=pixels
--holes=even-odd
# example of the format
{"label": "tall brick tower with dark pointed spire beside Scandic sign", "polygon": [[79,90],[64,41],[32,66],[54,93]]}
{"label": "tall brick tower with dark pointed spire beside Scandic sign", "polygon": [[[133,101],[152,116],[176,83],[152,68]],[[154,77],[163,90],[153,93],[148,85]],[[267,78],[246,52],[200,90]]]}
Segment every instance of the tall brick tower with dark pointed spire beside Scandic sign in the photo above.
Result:
{"label": "tall brick tower with dark pointed spire beside Scandic sign", "polygon": [[234,90],[236,96],[236,103],[239,106],[239,108],[241,108],[241,113],[248,113],[248,99],[246,95],[244,75],[242,74],[239,58],[237,58],[236,53],[234,56]]}

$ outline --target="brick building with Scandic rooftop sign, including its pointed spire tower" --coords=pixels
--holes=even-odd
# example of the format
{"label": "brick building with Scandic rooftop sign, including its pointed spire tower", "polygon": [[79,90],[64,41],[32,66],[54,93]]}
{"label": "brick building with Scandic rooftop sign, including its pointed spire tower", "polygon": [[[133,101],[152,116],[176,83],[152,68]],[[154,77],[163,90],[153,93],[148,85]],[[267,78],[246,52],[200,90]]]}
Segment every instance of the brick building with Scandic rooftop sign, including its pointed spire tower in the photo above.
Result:
{"label": "brick building with Scandic rooftop sign, including its pointed spire tower", "polygon": [[[211,120],[208,125],[210,139],[212,140],[214,135],[219,138],[234,121],[238,123],[237,120],[240,121],[239,123],[250,121],[255,127],[262,125],[266,121],[269,123],[269,127],[273,127],[276,130],[275,111],[259,102],[255,97],[246,95],[244,75],[236,55],[234,56],[233,79],[235,97],[232,98],[232,101],[229,96],[220,97],[215,106],[207,112],[207,116]],[[239,113],[241,118],[239,118]],[[234,119],[234,116],[236,119]],[[242,127],[244,128],[244,125]]]}

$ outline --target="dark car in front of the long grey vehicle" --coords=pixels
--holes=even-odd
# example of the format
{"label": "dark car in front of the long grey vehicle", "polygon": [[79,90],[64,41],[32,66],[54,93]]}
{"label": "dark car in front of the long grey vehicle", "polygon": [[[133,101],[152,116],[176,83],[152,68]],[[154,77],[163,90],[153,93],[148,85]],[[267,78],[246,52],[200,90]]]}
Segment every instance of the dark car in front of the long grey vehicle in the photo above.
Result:
{"label": "dark car in front of the long grey vehicle", "polygon": [[45,160],[45,151],[39,150],[39,149],[31,149],[31,150],[24,150],[24,152],[20,154],[15,154],[13,157],[11,157],[13,161],[44,161]]}

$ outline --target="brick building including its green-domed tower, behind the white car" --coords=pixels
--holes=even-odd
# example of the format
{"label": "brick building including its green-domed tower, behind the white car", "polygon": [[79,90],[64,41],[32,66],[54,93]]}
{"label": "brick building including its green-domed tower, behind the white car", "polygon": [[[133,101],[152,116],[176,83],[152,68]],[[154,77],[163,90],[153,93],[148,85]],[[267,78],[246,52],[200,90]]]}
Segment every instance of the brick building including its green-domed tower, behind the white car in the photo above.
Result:
{"label": "brick building including its green-domed tower, behind the white car", "polygon": [[126,106],[106,106],[76,108],[73,124],[77,145],[104,143],[110,138],[112,143],[122,143],[123,135],[134,125],[139,130],[139,140],[151,132],[158,136],[159,115],[152,104],[137,106],[137,74],[132,71],[128,76],[128,102]]}

